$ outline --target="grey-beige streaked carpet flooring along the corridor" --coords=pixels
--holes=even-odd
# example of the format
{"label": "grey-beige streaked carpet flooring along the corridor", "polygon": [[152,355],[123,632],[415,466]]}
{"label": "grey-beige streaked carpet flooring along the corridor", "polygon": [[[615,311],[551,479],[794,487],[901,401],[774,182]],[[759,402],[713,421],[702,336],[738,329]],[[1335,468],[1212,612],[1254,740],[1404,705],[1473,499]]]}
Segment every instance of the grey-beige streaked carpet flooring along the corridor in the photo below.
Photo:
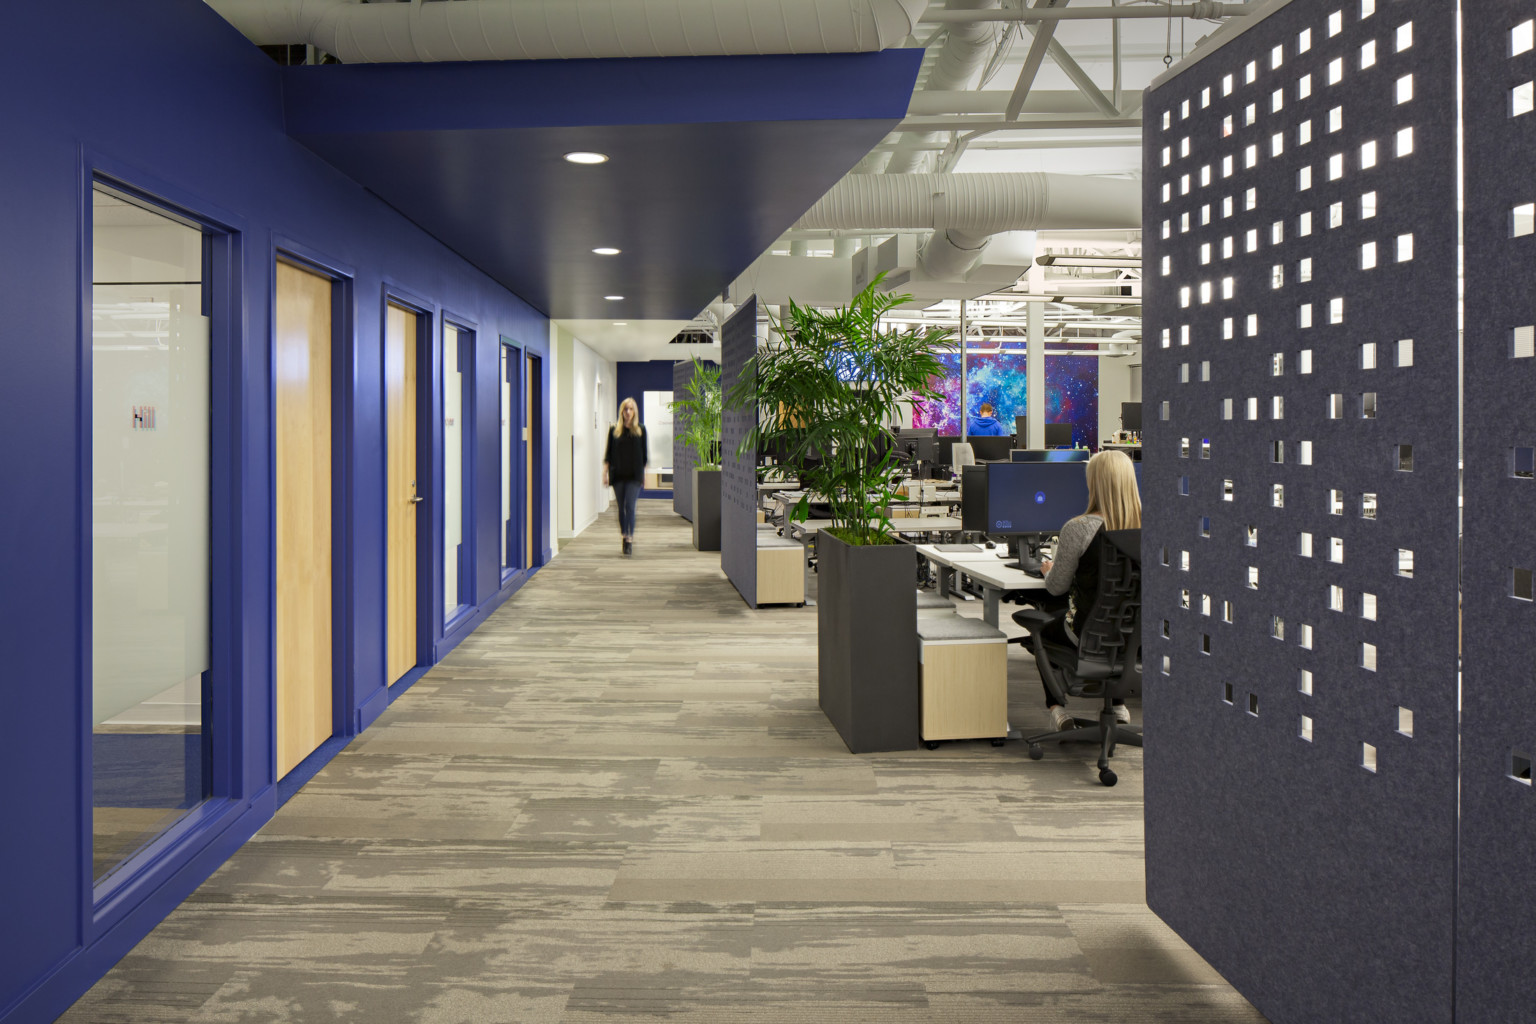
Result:
{"label": "grey-beige streaked carpet flooring along the corridor", "polygon": [[1094,757],[849,755],[816,609],[641,502],[633,559],[611,513],[567,542],[61,1019],[1261,1022],[1144,906],[1141,751]]}

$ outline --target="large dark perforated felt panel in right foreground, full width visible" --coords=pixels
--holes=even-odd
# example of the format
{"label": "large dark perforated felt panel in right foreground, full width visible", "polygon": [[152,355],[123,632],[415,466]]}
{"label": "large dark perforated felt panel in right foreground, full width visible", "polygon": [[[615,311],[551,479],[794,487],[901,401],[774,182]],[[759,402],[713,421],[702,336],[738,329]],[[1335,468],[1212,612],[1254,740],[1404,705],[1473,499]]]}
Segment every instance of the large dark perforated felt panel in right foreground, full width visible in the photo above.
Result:
{"label": "large dark perforated felt panel in right foreground, full width visible", "polygon": [[1452,1016],[1455,28],[1303,0],[1146,97],[1147,903],[1276,1022]]}

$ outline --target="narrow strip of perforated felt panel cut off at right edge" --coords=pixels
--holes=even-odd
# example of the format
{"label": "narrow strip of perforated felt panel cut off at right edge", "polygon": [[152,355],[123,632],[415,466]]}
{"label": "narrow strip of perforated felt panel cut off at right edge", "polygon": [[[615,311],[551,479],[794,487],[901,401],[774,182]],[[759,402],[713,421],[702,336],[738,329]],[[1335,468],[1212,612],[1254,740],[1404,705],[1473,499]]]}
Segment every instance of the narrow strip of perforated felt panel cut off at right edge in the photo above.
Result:
{"label": "narrow strip of perforated felt panel cut off at right edge", "polygon": [[1464,686],[1456,1018],[1536,1015],[1536,40],[1528,2],[1464,28]]}

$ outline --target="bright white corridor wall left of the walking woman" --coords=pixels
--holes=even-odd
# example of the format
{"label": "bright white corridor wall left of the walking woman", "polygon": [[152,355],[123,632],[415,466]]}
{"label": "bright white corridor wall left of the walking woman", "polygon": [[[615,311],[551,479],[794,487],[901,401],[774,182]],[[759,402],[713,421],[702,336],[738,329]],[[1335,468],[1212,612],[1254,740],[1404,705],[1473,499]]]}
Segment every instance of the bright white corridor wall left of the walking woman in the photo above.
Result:
{"label": "bright white corridor wall left of the walking woman", "polygon": [[550,324],[556,355],[554,500],[561,537],[574,537],[608,508],[602,454],[617,407],[617,370],[570,332]]}

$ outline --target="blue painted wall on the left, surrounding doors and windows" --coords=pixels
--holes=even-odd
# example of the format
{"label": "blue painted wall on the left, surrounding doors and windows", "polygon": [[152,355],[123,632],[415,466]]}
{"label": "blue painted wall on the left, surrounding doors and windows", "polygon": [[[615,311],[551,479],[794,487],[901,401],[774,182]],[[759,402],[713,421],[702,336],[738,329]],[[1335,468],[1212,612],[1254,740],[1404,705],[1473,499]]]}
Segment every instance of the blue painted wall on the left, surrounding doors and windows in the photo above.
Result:
{"label": "blue painted wall on the left, surrounding doors and windows", "polygon": [[[384,424],[381,332],[390,290],[475,325],[475,468],[496,479],[498,336],[545,356],[544,316],[364,192],[284,132],[280,69],[198,0],[51,0],[8,11],[17,38],[68,38],[20,48],[0,63],[0,408],[11,438],[0,468],[25,500],[0,502],[0,1019],[49,1021],[132,947],[244,841],[273,808],[270,656],[270,304],[280,244],[353,278],[350,391],[343,408],[352,628],[347,728],[387,703],[384,680]],[[232,416],[218,502],[233,543],[215,579],[215,613],[230,637],[224,691],[240,694],[218,752],[227,800],[178,849],[147,864],[111,906],[94,907],[86,854],[83,737],[89,699],[81,608],[89,579],[81,539],[80,375],[83,250],[94,170],[235,232],[229,388]],[[86,307],[88,309],[88,307]],[[346,365],[343,359],[338,370]],[[670,387],[670,379],[667,387]],[[548,408],[545,401],[544,408]],[[424,410],[424,415],[430,415]],[[441,421],[441,418],[438,418]],[[548,436],[548,431],[544,434]],[[89,479],[89,477],[86,477]],[[542,488],[547,493],[547,481]],[[499,573],[496,487],[476,491],[472,628],[524,576]],[[435,494],[433,500],[441,500]],[[538,500],[547,504],[545,494]],[[439,545],[430,545],[435,551]],[[536,545],[548,548],[544,537]],[[441,559],[441,554],[435,554]],[[462,634],[462,633],[459,633]],[[441,652],[455,637],[441,639]]]}

